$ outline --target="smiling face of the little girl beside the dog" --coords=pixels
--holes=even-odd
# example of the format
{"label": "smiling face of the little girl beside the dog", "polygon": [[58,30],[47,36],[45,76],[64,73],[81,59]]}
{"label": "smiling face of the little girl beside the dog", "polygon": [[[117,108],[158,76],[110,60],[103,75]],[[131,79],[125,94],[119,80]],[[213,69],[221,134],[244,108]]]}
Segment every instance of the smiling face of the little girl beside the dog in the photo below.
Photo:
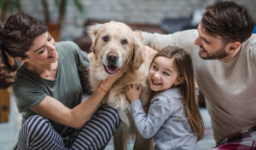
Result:
{"label": "smiling face of the little girl beside the dog", "polygon": [[161,91],[170,89],[172,85],[182,83],[178,78],[176,66],[172,58],[158,56],[155,58],[148,72],[150,89]]}

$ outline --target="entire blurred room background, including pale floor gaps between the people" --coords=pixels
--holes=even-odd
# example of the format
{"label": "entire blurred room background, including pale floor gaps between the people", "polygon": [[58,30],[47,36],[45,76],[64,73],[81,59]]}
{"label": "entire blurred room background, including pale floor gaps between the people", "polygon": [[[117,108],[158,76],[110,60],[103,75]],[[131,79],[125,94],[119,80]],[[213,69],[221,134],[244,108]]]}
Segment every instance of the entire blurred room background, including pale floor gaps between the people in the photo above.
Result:
{"label": "entire blurred room background, including pale floor gaps between the people", "polygon": [[[247,6],[256,20],[255,0],[235,0]],[[86,26],[118,20],[133,30],[172,33],[196,28],[205,6],[214,0],[0,0],[0,23],[10,14],[22,11],[44,20],[55,41],[71,40],[90,51]],[[255,28],[254,28],[255,29]],[[254,30],[255,32],[255,30]],[[84,81],[86,82],[86,81]],[[204,97],[197,91],[201,115],[205,122],[205,137],[199,141],[201,150],[214,147],[211,120],[204,106]],[[86,93],[84,93],[84,99]],[[11,89],[0,89],[0,149],[15,146],[20,130],[20,114]],[[129,148],[132,147],[132,141]],[[110,141],[105,149],[113,149]]]}

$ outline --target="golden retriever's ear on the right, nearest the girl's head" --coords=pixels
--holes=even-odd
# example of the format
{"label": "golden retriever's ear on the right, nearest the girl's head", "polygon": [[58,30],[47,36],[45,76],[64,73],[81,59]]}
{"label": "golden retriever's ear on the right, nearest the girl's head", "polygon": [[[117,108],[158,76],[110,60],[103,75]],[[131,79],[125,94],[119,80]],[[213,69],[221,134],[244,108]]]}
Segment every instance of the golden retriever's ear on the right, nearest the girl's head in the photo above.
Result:
{"label": "golden retriever's ear on the right, nearest the girl's head", "polygon": [[133,69],[137,70],[143,63],[143,42],[134,35],[135,42],[133,47]]}

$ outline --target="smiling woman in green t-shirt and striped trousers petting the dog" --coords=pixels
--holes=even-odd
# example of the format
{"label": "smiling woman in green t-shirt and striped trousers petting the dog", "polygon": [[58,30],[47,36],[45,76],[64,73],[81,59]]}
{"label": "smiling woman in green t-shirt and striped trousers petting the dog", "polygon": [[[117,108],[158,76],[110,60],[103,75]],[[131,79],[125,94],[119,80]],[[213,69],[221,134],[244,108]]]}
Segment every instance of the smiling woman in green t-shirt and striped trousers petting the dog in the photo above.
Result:
{"label": "smiling woman in green t-shirt and striped trousers petting the dog", "polygon": [[23,13],[1,26],[0,42],[0,88],[12,85],[23,118],[16,149],[100,149],[108,143],[118,113],[96,108],[124,68],[81,102],[79,72],[89,61],[75,43],[55,43],[42,21]]}

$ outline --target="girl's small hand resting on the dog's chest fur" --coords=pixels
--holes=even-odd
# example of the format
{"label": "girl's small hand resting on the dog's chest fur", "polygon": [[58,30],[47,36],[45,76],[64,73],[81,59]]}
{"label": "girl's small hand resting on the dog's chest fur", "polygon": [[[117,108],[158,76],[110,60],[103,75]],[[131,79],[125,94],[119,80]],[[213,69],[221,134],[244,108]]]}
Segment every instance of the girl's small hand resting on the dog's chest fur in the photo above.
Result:
{"label": "girl's small hand resting on the dog's chest fur", "polygon": [[142,93],[142,84],[131,84],[125,87],[125,95],[128,97],[129,101],[136,101],[139,99]]}

